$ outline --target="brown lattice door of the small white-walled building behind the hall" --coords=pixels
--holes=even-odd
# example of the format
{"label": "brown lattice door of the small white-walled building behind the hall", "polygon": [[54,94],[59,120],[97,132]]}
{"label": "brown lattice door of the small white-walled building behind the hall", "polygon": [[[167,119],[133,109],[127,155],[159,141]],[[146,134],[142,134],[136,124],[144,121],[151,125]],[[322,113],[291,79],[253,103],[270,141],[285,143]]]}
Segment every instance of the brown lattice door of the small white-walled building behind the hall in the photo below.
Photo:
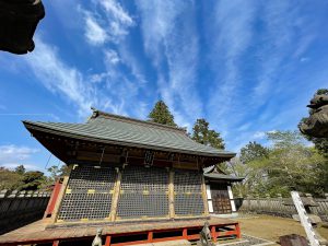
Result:
{"label": "brown lattice door of the small white-walled building behind the hall", "polygon": [[213,212],[216,214],[231,213],[231,202],[226,184],[211,184]]}

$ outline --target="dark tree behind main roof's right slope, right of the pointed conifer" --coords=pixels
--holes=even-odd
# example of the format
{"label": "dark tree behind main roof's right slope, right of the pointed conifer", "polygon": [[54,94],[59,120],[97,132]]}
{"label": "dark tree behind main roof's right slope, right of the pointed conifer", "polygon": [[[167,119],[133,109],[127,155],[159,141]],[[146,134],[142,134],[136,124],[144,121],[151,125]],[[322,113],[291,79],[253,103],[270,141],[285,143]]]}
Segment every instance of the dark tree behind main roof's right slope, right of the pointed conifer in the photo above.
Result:
{"label": "dark tree behind main roof's right slope, right of the pointed conifer", "polygon": [[196,120],[191,138],[201,144],[224,150],[224,140],[219,132],[209,129],[209,122],[203,118]]}

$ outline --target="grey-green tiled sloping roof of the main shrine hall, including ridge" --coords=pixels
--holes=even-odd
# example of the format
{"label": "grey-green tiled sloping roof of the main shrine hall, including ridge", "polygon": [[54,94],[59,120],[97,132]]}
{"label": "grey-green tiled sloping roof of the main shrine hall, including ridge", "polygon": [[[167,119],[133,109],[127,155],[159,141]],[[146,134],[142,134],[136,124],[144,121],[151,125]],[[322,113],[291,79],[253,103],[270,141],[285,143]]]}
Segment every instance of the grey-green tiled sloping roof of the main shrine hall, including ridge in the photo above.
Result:
{"label": "grey-green tiled sloping roof of the main shrine hall, including ridge", "polygon": [[191,140],[185,129],[112,115],[93,109],[85,124],[23,121],[28,130],[59,136],[202,156],[226,157],[235,153],[207,147]]}

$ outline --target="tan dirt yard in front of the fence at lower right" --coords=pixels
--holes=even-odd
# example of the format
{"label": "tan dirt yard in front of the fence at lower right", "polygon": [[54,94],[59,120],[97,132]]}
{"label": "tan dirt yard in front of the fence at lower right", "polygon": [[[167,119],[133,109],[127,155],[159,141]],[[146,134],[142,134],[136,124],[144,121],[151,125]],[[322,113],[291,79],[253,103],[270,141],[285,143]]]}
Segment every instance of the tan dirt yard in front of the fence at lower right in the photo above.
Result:
{"label": "tan dirt yard in front of the fence at lower right", "polygon": [[[306,236],[301,223],[292,219],[269,215],[256,216],[258,218],[238,219],[241,222],[242,233],[272,242],[279,242],[279,236],[293,233]],[[328,238],[328,229],[319,227],[318,232],[323,237]]]}

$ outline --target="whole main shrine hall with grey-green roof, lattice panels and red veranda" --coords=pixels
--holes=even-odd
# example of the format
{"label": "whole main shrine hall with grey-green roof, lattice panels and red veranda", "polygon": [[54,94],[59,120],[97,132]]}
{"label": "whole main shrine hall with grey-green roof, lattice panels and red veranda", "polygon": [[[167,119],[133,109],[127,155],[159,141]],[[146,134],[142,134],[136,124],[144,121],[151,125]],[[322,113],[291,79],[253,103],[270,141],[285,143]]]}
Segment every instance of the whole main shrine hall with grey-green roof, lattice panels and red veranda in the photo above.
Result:
{"label": "whole main shrine hall with grey-green roof, lattice panels and red veranda", "polygon": [[210,216],[203,175],[234,153],[199,144],[185,129],[96,109],[85,124],[23,122],[70,174],[57,181],[45,218],[0,236],[0,245],[81,245],[97,227],[107,246],[197,239],[206,221],[214,241],[241,236],[238,222]]}

